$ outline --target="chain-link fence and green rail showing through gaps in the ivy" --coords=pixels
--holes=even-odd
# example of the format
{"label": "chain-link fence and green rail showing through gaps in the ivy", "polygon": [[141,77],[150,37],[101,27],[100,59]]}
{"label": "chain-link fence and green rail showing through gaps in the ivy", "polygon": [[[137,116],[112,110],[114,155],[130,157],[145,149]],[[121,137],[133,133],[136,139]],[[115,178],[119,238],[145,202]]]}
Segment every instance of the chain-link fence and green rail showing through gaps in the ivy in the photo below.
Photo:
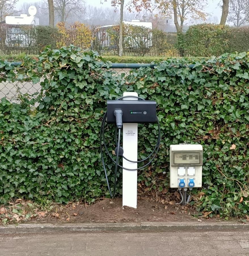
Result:
{"label": "chain-link fence and green rail showing through gaps in the ivy", "polygon": [[[150,64],[147,64],[150,65]],[[126,66],[128,68],[126,68]],[[121,75],[124,73],[124,75],[127,75],[130,73],[131,68],[139,68],[144,65],[139,64],[125,64],[125,63],[113,63],[113,68],[110,69],[111,71],[115,71],[116,74]],[[115,74],[114,74],[115,75]],[[42,80],[40,80],[42,82]],[[11,102],[18,102],[18,95],[19,94],[26,94],[29,95],[34,94],[35,92],[40,92],[41,85],[40,82],[33,84],[32,81],[27,82],[1,82],[0,83],[0,99],[3,97],[6,97]]]}

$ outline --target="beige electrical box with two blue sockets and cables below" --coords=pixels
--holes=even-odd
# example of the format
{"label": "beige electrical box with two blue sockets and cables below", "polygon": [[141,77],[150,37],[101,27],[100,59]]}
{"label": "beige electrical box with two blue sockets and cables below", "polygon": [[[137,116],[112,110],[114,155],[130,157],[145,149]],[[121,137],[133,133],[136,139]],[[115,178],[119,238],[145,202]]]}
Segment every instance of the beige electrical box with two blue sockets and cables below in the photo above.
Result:
{"label": "beige electrical box with two blue sockets and cables below", "polygon": [[183,205],[187,189],[202,186],[202,152],[200,144],[170,145],[170,187],[178,188]]}

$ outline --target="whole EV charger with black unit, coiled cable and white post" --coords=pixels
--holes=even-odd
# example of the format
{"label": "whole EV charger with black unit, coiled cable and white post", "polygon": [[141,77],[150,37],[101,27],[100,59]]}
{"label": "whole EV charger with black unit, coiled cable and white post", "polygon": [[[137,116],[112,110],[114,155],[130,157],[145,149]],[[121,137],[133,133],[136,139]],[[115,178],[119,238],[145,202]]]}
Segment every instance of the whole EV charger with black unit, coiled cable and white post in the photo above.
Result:
{"label": "whole EV charger with black unit, coiled cable and white post", "polygon": [[[144,100],[138,97],[136,92],[124,92],[117,100],[107,100],[107,112],[104,114],[100,129],[100,153],[104,167],[107,187],[111,197],[115,195],[117,168],[123,169],[123,206],[137,208],[137,171],[145,168],[155,158],[160,146],[160,125],[156,115],[156,102]],[[115,130],[115,154],[116,160],[108,152],[105,143],[105,122],[116,124]],[[157,123],[158,138],[154,150],[145,159],[138,160],[138,123]],[[121,128],[123,127],[123,147],[120,146]],[[118,137],[118,139],[117,139]],[[103,139],[103,140],[102,140]],[[114,189],[109,186],[107,171],[105,168],[102,141],[105,152],[115,163]],[[123,157],[123,166],[119,164],[119,156]],[[151,159],[150,159],[151,158]],[[146,164],[138,168],[138,163],[150,159]]]}

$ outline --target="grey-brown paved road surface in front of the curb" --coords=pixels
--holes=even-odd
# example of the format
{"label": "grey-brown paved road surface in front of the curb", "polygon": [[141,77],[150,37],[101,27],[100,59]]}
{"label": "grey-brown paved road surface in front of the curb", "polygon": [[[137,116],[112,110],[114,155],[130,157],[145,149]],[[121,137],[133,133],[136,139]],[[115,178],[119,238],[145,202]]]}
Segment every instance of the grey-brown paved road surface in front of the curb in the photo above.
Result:
{"label": "grey-brown paved road surface in front of the curb", "polygon": [[0,255],[249,255],[249,232],[109,232],[1,235]]}

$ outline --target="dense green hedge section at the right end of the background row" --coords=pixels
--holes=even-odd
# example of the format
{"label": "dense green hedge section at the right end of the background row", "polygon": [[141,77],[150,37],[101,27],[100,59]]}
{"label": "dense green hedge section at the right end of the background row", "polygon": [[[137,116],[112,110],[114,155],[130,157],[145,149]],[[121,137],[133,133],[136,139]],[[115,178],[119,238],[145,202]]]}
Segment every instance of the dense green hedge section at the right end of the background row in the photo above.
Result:
{"label": "dense green hedge section at the right end of the background row", "polygon": [[249,27],[234,28],[216,24],[190,26],[177,36],[181,56],[219,56],[224,52],[249,50]]}

